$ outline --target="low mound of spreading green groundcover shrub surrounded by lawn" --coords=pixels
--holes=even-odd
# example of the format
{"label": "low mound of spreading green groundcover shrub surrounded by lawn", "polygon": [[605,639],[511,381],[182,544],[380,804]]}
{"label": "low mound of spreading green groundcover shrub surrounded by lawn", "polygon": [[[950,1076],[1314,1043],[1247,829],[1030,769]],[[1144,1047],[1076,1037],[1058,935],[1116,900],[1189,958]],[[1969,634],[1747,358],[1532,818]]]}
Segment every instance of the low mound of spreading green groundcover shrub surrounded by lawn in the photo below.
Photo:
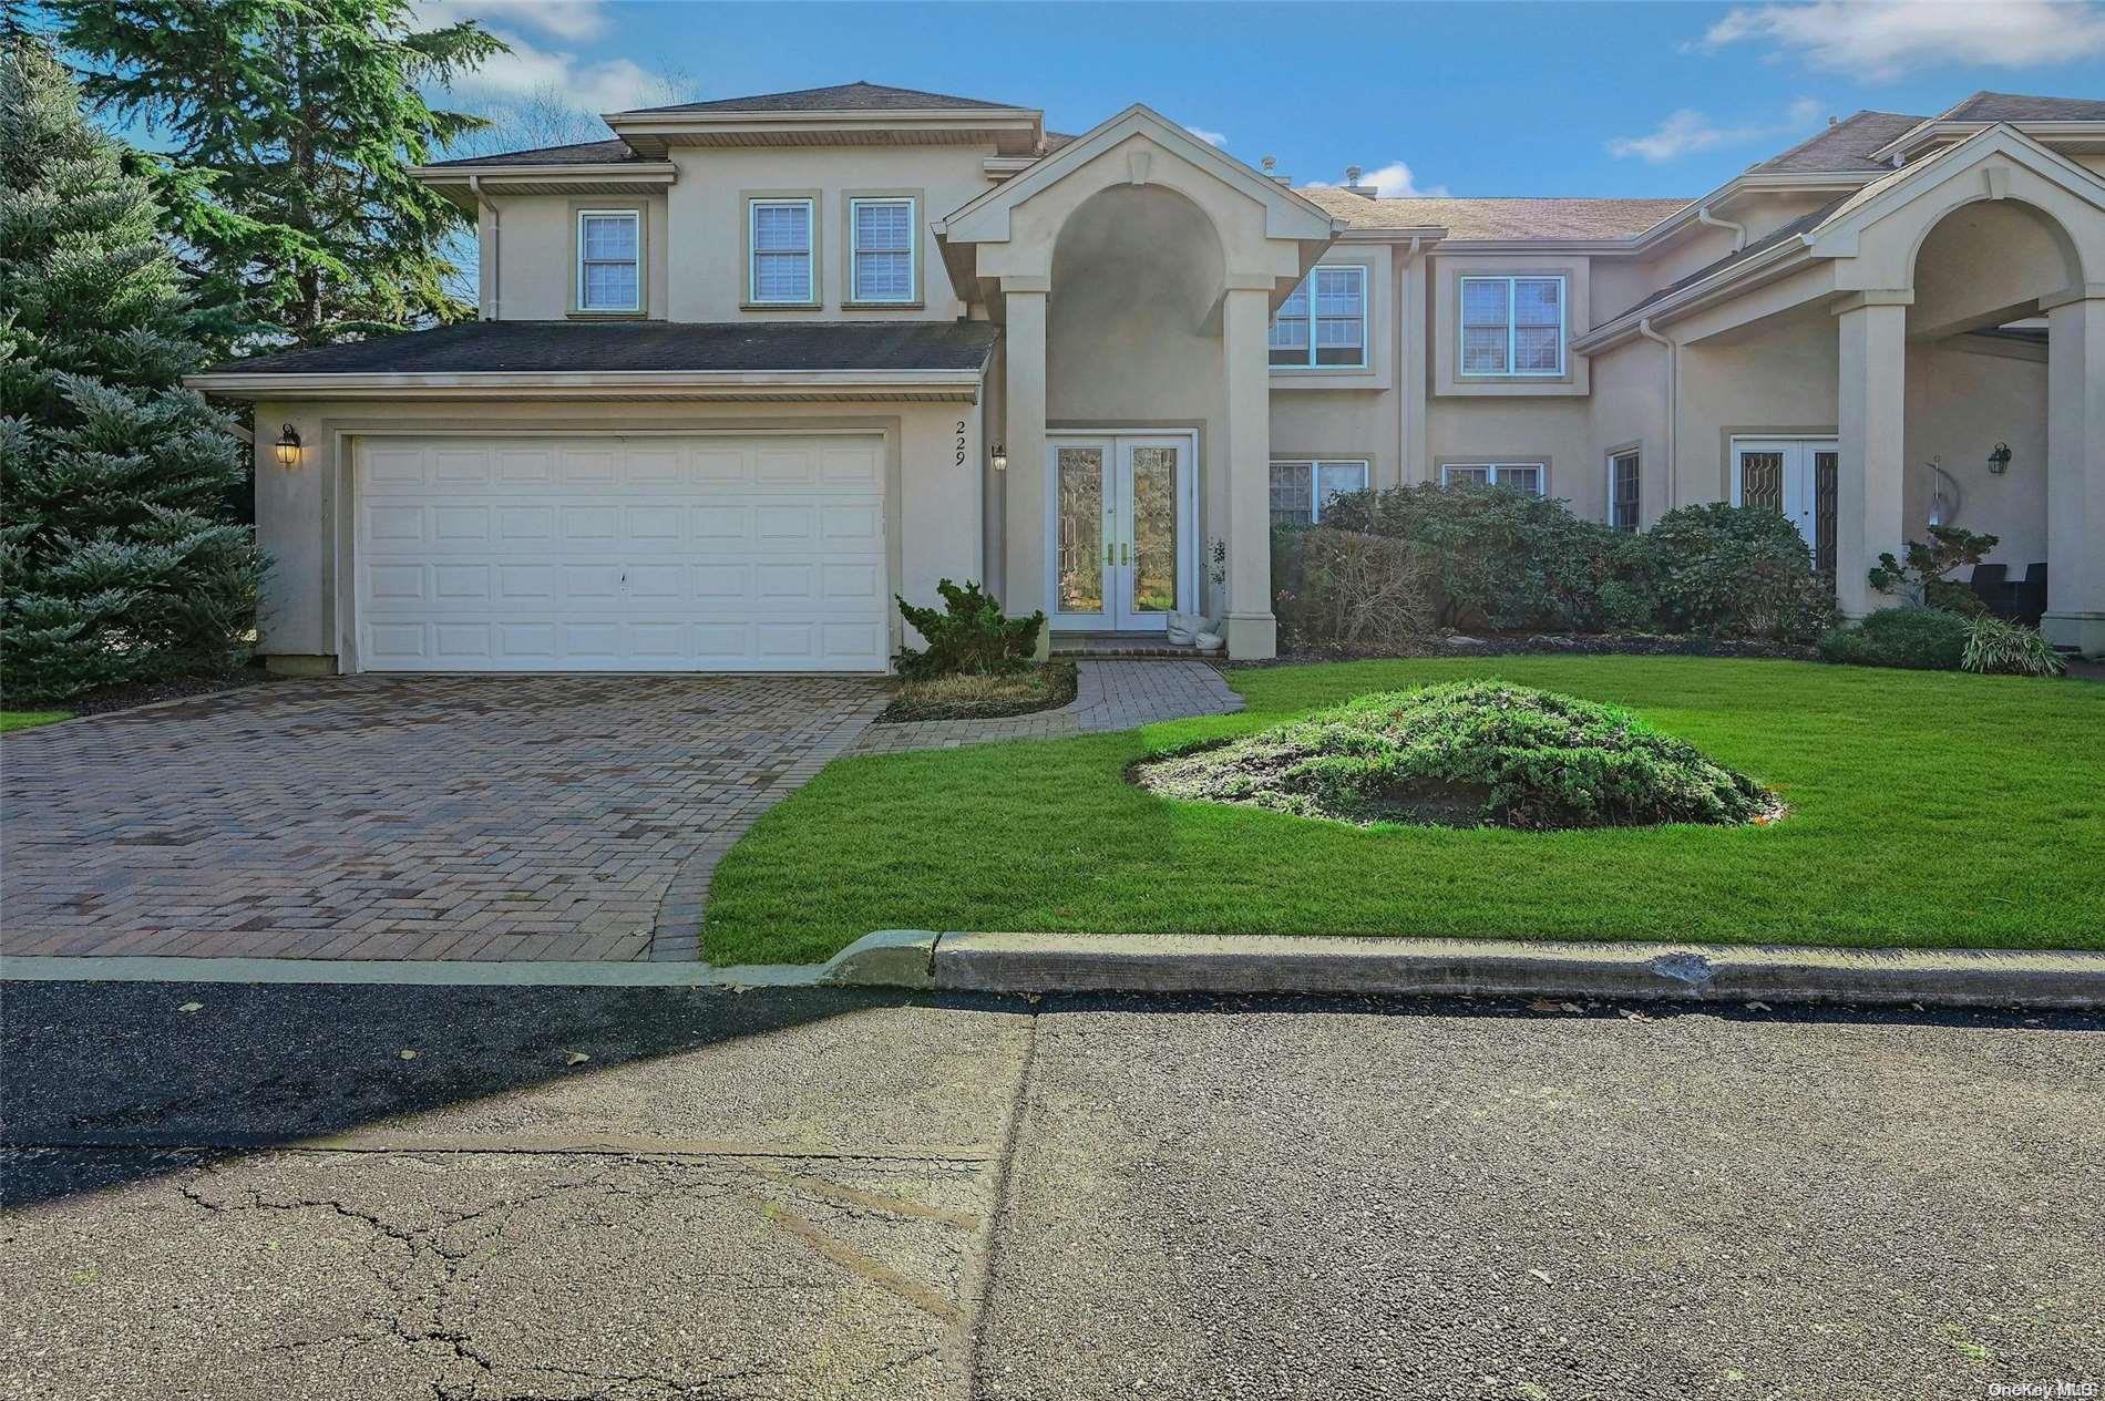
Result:
{"label": "low mound of spreading green groundcover shrub surrounded by lawn", "polygon": [[1227,743],[1147,759],[1164,797],[1345,823],[1646,827],[1768,823],[1775,795],[1629,711],[1503,682],[1358,696]]}

